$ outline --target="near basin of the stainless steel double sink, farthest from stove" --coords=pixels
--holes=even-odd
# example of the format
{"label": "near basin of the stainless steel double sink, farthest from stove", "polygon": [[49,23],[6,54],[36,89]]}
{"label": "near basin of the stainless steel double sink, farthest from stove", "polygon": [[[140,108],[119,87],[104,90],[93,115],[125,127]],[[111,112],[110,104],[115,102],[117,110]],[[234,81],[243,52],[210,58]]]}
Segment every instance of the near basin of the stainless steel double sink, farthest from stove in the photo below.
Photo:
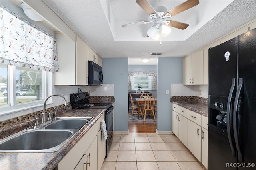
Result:
{"label": "near basin of the stainless steel double sink, farthest from stove", "polygon": [[73,135],[68,130],[26,130],[1,142],[1,152],[54,152]]}

